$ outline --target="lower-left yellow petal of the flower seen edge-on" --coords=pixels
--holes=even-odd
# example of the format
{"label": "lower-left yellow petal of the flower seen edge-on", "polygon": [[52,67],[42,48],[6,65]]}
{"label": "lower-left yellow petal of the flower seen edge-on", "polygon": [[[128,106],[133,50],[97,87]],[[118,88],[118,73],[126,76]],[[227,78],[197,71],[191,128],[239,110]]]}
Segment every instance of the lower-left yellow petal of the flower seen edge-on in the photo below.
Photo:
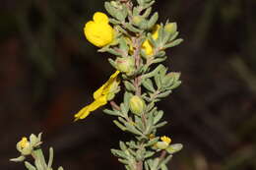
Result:
{"label": "lower-left yellow petal of the flower seen edge-on", "polygon": [[98,107],[105,105],[106,102],[106,97],[102,96],[96,99],[93,103],[85,106],[82,110],[80,110],[76,115],[75,115],[75,121],[78,119],[85,119],[92,111],[95,111]]}

